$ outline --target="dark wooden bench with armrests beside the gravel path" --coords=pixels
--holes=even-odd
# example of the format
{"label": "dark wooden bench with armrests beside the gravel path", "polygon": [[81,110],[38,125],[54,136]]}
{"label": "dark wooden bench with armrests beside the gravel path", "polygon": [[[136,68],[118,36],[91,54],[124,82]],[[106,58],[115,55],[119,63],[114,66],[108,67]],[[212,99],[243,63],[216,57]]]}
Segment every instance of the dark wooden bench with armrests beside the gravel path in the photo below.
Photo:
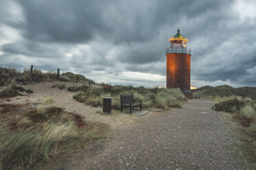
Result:
{"label": "dark wooden bench with armrests beside the gravel path", "polygon": [[[131,113],[131,109],[134,110],[135,106],[140,106],[140,110],[142,110],[142,100],[134,99],[134,95],[120,95],[120,99],[121,99],[121,112],[122,112],[122,107],[129,107],[130,113]],[[137,103],[135,101],[137,101]]]}

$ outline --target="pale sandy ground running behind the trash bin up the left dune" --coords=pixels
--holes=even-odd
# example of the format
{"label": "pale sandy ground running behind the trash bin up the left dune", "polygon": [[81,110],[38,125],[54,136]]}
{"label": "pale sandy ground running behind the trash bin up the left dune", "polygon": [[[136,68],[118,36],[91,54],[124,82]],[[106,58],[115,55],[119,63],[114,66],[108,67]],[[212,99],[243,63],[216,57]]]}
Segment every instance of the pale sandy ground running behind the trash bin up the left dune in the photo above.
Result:
{"label": "pale sandy ground running behind the trash bin up the left dune", "polygon": [[[47,99],[54,99],[53,104],[48,104],[47,106],[56,106],[60,108],[65,108],[65,111],[74,112],[83,115],[86,121],[97,121],[103,122],[109,125],[111,129],[120,127],[120,125],[130,125],[131,123],[136,123],[142,120],[141,117],[136,117],[131,114],[120,114],[118,110],[114,110],[113,114],[103,114],[103,108],[92,107],[82,104],[72,97],[76,94],[67,90],[67,87],[74,86],[73,83],[65,83],[66,88],[61,90],[58,88],[52,88],[53,85],[63,84],[63,82],[41,82],[23,85],[25,89],[33,90],[34,93],[27,94],[23,93],[24,96],[17,96],[10,98],[10,101],[6,99],[1,99],[0,104],[25,104],[30,103],[32,106],[37,108],[45,107],[43,104]],[[95,86],[97,88],[97,86]],[[0,87],[0,91],[6,89],[6,87]],[[151,116],[147,116],[151,117]]]}

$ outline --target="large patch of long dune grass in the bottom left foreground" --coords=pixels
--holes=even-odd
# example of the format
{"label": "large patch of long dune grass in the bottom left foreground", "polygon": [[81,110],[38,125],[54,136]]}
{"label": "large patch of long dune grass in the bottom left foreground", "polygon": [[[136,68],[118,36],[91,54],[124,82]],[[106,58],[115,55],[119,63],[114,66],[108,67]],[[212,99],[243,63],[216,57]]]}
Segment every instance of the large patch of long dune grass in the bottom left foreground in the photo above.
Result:
{"label": "large patch of long dune grass in the bottom left foreground", "polygon": [[98,138],[104,127],[55,107],[8,112],[0,120],[0,169],[35,166],[78,143],[85,145],[85,141]]}

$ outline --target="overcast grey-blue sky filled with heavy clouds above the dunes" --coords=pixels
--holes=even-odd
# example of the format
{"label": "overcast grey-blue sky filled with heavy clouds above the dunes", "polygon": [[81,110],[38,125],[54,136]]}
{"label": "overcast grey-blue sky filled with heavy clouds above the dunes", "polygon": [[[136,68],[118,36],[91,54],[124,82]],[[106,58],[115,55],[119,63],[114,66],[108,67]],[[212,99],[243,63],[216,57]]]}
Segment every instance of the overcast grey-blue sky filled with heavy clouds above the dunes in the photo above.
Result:
{"label": "overcast grey-blue sky filled with heavy clouds above the dunes", "polygon": [[191,86],[256,86],[256,1],[0,0],[0,66],[165,86],[168,39],[189,39]]}

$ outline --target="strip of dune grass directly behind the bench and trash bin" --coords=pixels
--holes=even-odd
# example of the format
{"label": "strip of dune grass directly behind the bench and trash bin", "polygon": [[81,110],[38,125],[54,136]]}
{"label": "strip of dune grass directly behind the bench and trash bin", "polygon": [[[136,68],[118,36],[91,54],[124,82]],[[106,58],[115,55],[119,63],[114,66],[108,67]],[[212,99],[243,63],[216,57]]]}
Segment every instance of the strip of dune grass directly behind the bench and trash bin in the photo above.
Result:
{"label": "strip of dune grass directly behind the bench and trash bin", "polygon": [[120,109],[120,95],[134,94],[134,99],[142,99],[143,108],[162,108],[169,107],[181,108],[186,101],[180,89],[166,88],[135,88],[133,86],[106,86],[103,88],[86,88],[81,93],[74,95],[76,101],[90,106],[102,106],[103,97],[112,98],[112,108]]}

